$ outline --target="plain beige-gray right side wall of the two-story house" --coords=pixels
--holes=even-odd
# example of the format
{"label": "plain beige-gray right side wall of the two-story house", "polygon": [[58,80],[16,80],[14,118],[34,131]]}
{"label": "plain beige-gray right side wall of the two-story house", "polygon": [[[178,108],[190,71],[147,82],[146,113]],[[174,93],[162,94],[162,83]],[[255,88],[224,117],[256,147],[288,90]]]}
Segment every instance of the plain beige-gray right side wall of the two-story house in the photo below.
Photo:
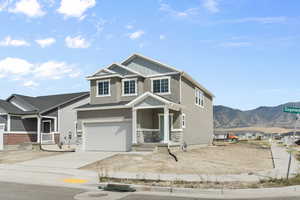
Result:
{"label": "plain beige-gray right side wall of the two-story house", "polygon": [[182,112],[186,117],[184,141],[187,144],[210,144],[213,137],[212,98],[205,95],[204,108],[195,104],[195,86],[182,78]]}

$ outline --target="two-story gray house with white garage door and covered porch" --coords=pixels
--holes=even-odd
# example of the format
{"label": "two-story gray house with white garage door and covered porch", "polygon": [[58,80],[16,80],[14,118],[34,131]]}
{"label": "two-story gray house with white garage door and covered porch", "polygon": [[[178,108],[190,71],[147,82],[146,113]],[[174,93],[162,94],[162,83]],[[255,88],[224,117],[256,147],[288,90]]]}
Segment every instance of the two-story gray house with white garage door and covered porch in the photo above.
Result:
{"label": "two-story gray house with white garage door and covered porch", "polygon": [[83,150],[212,142],[213,94],[185,72],[134,54],[87,79],[90,102],[76,108]]}

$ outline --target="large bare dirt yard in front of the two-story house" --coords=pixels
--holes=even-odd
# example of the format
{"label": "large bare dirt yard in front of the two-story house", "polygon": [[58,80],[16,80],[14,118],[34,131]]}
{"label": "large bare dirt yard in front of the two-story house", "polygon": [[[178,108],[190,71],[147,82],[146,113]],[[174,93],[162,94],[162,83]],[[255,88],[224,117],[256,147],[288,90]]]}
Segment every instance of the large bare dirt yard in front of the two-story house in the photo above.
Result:
{"label": "large bare dirt yard in front of the two-story house", "polygon": [[144,172],[174,174],[240,174],[272,169],[269,148],[254,144],[227,144],[148,155],[119,154],[82,169],[106,172]]}

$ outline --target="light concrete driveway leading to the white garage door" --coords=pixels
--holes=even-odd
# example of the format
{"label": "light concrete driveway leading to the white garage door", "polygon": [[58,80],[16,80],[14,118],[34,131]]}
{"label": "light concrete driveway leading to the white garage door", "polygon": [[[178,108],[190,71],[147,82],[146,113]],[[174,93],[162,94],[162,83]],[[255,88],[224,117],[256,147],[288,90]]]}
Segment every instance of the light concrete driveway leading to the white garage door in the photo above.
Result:
{"label": "light concrete driveway leading to the white garage door", "polygon": [[73,152],[39,158],[19,163],[28,167],[78,169],[85,165],[108,158],[117,152]]}

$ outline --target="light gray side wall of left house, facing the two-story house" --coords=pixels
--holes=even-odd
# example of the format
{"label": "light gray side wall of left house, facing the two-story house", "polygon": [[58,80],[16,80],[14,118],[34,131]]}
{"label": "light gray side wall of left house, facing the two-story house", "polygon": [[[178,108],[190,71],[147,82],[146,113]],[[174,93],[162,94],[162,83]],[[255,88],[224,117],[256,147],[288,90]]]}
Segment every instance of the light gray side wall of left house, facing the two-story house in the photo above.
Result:
{"label": "light gray side wall of left house, facing the two-story house", "polygon": [[83,98],[77,102],[71,102],[58,110],[58,132],[61,141],[71,132],[75,136],[75,122],[77,121],[77,113],[74,108],[89,103],[90,98]]}

